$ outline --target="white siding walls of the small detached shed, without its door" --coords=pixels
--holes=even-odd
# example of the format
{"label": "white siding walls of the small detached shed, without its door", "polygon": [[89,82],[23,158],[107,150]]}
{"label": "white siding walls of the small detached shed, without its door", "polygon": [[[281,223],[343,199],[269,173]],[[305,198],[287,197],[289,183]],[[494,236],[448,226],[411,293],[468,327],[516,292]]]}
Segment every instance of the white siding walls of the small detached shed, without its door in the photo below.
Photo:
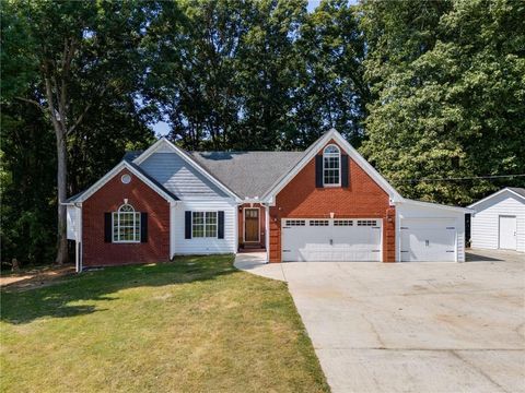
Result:
{"label": "white siding walls of the small detached shed, without its door", "polygon": [[516,250],[525,252],[525,201],[511,192],[503,192],[472,207],[470,222],[472,248],[498,249],[500,216],[516,217]]}

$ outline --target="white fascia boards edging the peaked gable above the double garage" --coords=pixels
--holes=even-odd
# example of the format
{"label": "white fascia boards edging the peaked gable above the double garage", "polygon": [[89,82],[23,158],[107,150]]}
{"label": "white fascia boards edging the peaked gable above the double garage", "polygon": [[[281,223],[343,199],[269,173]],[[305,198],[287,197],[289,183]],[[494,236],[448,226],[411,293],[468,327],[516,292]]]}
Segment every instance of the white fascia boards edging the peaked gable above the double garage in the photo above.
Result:
{"label": "white fascia boards edging the peaked gable above the double garage", "polygon": [[375,168],[370,165],[370,163],[363,158],[361,154],[358,153],[355,148],[352,147],[348,141],[342,138],[342,135],[337,132],[335,129],[328,131],[322,139],[308,147],[306,155],[278,182],[270,188],[265,196],[261,199],[264,201],[272,201],[275,195],[281,191],[284,186],[287,186],[304,166],[314,158],[317,152],[326,144],[328,141],[335,140],[347,153],[348,155],[366,172],[370,177],[390,196],[392,202],[402,202],[404,198],[390,186],[386,179],[380,175]]}

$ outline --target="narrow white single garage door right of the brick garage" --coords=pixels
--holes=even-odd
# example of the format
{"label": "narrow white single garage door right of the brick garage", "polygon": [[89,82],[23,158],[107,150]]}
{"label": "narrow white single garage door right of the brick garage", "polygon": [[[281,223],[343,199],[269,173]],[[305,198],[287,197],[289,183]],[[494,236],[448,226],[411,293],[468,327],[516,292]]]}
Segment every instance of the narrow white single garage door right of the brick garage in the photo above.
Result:
{"label": "narrow white single garage door right of the brick garage", "polygon": [[402,262],[456,261],[454,218],[401,219]]}

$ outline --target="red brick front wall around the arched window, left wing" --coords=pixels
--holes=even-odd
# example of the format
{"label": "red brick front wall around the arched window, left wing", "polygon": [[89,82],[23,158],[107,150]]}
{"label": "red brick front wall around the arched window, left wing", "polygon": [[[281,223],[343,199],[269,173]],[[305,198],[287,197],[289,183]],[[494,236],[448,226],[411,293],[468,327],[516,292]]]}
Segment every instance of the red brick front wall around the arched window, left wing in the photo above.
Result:
{"label": "red brick front wall around the arched window, left wing", "polygon": [[[131,176],[124,184],[120,177]],[[148,242],[104,242],[104,213],[116,212],[128,199],[137,212],[148,213]],[[170,259],[170,203],[127,169],[82,204],[83,265],[104,266],[161,262]]]}

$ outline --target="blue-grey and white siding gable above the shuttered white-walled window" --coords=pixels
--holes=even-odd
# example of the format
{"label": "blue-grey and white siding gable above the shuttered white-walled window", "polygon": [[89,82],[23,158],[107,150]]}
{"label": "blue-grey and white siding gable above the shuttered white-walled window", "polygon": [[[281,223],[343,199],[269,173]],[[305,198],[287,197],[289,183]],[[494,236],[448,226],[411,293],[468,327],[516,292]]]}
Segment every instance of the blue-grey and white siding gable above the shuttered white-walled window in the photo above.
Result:
{"label": "blue-grey and white siding gable above the shuttered white-walled window", "polygon": [[176,153],[153,153],[140,167],[180,199],[229,198]]}

